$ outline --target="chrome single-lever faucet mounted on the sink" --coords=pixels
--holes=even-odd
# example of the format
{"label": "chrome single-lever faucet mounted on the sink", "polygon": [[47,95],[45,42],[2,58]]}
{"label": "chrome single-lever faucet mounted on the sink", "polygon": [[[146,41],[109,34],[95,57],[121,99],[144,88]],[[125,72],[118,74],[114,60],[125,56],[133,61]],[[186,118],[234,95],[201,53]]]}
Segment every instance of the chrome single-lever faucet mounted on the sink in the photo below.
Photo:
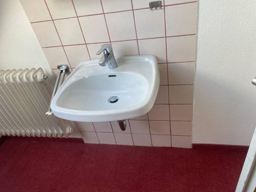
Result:
{"label": "chrome single-lever faucet mounted on the sink", "polygon": [[110,44],[103,44],[100,50],[96,53],[97,55],[103,52],[102,57],[99,60],[100,66],[106,66],[108,64],[110,69],[117,68],[116,59]]}

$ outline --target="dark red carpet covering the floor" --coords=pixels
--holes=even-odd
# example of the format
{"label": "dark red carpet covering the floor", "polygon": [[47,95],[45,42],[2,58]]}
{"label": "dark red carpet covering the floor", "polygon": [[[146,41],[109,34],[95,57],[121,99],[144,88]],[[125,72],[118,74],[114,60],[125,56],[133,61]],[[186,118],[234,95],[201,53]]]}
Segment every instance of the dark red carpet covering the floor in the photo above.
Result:
{"label": "dark red carpet covering the floor", "polygon": [[84,144],[11,137],[0,191],[234,191],[246,151]]}

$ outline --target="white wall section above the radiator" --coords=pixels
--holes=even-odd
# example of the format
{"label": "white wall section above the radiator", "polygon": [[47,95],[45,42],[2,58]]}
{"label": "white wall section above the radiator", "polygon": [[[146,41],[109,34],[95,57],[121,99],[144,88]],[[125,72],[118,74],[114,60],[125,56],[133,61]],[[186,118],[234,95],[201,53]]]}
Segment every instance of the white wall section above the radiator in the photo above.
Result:
{"label": "white wall section above the radiator", "polygon": [[0,59],[0,70],[41,67],[52,74],[18,0],[0,0]]}

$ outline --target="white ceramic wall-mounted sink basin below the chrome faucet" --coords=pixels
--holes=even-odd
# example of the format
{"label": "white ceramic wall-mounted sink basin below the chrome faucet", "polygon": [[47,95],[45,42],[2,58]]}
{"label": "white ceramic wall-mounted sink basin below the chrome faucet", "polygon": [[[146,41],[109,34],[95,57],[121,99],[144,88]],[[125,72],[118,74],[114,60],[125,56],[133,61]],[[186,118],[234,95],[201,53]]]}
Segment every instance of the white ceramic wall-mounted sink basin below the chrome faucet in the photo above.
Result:
{"label": "white ceramic wall-mounted sink basin below the chrome faucet", "polygon": [[51,102],[55,116],[72,121],[116,121],[152,109],[159,88],[155,56],[116,57],[115,69],[101,67],[98,61],[82,61],[63,82]]}

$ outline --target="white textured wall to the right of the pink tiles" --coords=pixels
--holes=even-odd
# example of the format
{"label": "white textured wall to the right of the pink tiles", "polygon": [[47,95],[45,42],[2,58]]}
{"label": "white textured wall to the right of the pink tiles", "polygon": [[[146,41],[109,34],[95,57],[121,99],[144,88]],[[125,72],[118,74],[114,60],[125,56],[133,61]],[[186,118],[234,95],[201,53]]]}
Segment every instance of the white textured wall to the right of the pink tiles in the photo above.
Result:
{"label": "white textured wall to the right of the pink tiles", "polygon": [[256,126],[256,1],[200,1],[193,143],[249,145]]}

